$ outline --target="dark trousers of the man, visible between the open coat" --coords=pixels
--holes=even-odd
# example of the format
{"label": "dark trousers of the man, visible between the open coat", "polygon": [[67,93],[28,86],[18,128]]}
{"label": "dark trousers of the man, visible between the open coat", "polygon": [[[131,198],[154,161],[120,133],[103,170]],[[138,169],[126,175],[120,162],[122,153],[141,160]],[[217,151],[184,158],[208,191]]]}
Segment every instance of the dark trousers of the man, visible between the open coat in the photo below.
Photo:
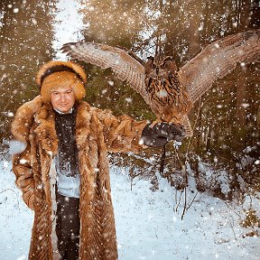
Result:
{"label": "dark trousers of the man, visible between the open coat", "polygon": [[76,260],[79,257],[79,199],[68,198],[56,192],[56,234],[60,260]]}

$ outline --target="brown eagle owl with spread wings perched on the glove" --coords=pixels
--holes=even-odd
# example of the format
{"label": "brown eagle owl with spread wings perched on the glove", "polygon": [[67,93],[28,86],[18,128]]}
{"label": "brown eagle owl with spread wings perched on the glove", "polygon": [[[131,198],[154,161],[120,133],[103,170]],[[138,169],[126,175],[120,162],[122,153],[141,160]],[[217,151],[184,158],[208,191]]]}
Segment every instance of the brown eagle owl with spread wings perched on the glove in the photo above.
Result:
{"label": "brown eagle owl with spread wings perched on the glove", "polygon": [[[188,114],[192,105],[217,79],[234,70],[237,63],[260,60],[260,30],[229,35],[209,43],[177,70],[172,57],[149,57],[144,63],[130,51],[93,42],[69,42],[61,51],[81,60],[112,69],[117,78],[134,88],[151,107],[157,120],[181,124],[192,135]],[[157,121],[156,120],[156,121]]]}

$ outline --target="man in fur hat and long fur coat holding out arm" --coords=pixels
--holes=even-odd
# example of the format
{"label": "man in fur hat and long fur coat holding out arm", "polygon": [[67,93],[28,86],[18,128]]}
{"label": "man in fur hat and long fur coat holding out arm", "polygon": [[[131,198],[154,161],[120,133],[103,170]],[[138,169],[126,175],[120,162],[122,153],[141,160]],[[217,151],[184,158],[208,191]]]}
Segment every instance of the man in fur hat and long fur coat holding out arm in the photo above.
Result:
{"label": "man in fur hat and long fur coat holding out arm", "polygon": [[41,96],[20,107],[12,124],[25,147],[13,156],[16,184],[34,211],[29,259],[59,252],[60,259],[116,260],[107,152],[181,141],[183,130],[90,107],[81,100],[86,73],[70,61],[43,65],[36,82]]}

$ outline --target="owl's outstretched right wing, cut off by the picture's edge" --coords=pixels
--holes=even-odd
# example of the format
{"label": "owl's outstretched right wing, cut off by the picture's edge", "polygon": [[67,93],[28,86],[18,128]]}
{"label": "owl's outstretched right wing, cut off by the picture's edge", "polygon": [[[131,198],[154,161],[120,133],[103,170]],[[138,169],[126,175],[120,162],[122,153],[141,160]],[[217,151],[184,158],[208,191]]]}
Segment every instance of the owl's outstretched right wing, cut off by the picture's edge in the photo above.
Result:
{"label": "owl's outstretched right wing, cut off by the picture's edge", "polygon": [[260,61],[260,30],[229,35],[212,42],[179,71],[181,85],[190,100],[198,100],[217,79],[224,78],[241,65]]}

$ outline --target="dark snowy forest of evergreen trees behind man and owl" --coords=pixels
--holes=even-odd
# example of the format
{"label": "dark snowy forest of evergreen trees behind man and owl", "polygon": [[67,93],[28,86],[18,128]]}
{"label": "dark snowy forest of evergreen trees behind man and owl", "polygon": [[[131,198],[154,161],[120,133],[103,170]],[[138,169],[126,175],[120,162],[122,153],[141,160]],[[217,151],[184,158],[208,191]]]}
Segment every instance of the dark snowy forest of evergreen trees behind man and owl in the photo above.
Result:
{"label": "dark snowy forest of evergreen trees behind man and owl", "polygon": [[[11,3],[11,4],[10,4]],[[60,50],[53,49],[56,0],[0,3],[1,153],[8,150],[10,122],[17,107],[38,95],[34,77],[42,63]],[[133,51],[140,59],[172,56],[181,68],[207,44],[227,35],[260,28],[257,0],[89,0],[80,1],[86,42],[103,42]],[[61,46],[60,46],[61,47]],[[111,70],[84,64],[88,71],[88,103],[111,109],[116,115],[153,120],[144,100]],[[260,190],[260,65],[237,64],[224,79],[195,104],[190,112],[194,134],[180,149],[167,146],[163,178],[176,189],[189,185],[223,200]],[[156,190],[161,151],[115,154],[111,163],[131,166],[131,178],[149,178]],[[153,156],[153,162],[146,158]],[[207,178],[198,163],[212,167]],[[220,189],[219,172],[225,171],[229,190]],[[221,173],[222,174],[222,173]]]}

